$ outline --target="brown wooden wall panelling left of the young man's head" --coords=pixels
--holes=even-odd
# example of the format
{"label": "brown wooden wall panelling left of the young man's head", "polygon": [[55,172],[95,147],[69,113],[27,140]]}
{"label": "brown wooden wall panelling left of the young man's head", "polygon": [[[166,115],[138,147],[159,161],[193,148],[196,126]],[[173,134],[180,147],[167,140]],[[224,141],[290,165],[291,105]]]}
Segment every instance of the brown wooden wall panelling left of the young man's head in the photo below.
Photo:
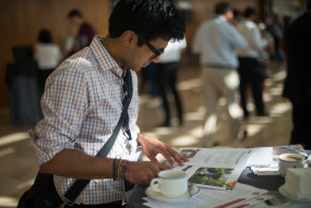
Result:
{"label": "brown wooden wall panelling left of the young man's head", "polygon": [[110,0],[0,0],[0,108],[9,106],[4,75],[11,48],[34,46],[39,30],[47,28],[64,52],[67,37],[74,34],[67,19],[72,9],[81,10],[97,34],[108,34]]}

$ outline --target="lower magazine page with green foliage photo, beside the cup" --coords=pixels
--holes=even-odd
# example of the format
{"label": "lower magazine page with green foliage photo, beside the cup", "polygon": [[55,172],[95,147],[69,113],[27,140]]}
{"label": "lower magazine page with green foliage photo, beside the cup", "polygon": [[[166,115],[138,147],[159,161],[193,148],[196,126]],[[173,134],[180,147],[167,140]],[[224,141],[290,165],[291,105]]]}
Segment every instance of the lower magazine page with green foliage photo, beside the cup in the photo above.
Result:
{"label": "lower magazine page with green foliage photo, beside the cup", "polygon": [[206,167],[177,167],[187,173],[188,181],[200,186],[214,189],[234,188],[243,169],[206,168]]}

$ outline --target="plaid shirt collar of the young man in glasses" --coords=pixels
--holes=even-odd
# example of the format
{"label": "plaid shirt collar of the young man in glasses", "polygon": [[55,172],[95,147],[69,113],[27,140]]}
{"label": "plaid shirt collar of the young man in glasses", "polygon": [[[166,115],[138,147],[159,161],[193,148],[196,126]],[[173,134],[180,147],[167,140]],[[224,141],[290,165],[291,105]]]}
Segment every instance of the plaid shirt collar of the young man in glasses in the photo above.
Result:
{"label": "plaid shirt collar of the young man in glasses", "polygon": [[123,70],[118,65],[118,63],[101,44],[104,38],[104,36],[96,35],[89,45],[89,48],[98,62],[98,68],[103,70],[103,72],[111,70],[118,76],[122,77]]}

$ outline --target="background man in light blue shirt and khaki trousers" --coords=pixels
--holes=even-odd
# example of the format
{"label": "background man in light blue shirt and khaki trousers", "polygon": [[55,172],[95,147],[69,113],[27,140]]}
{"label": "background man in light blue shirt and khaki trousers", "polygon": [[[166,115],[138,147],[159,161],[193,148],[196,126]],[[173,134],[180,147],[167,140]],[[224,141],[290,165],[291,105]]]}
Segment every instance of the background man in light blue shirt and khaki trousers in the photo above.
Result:
{"label": "background man in light blue shirt and khaki trousers", "polygon": [[[236,50],[247,46],[244,38],[228,21],[232,19],[232,11],[227,2],[220,2],[215,8],[216,19],[205,22],[195,32],[192,51],[200,54],[202,65],[202,82],[204,101],[206,107],[204,124],[204,145],[215,145],[213,133],[215,131],[218,99],[227,99],[231,138],[243,138],[246,132],[240,132],[241,113],[236,100],[239,86],[237,73],[238,59]],[[238,133],[241,134],[238,134]]]}

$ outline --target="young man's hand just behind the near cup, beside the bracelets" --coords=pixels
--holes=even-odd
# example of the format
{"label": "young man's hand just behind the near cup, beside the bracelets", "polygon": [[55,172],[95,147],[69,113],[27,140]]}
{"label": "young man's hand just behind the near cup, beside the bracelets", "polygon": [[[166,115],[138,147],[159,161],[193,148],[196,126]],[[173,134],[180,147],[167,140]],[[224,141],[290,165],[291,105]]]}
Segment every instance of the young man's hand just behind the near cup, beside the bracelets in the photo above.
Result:
{"label": "young man's hand just behind the near cup, beside the bracelets", "polygon": [[134,184],[148,186],[151,181],[157,176],[160,171],[171,169],[169,166],[159,162],[131,162],[129,161],[125,180]]}

